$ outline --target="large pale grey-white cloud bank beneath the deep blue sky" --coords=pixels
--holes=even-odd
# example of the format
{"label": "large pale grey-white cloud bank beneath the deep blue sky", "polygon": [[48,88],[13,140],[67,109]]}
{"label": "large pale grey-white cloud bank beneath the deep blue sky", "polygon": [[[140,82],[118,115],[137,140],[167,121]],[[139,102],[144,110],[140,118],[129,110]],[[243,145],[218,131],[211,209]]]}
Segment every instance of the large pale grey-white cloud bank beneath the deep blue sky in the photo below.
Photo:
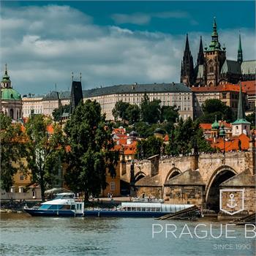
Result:
{"label": "large pale grey-white cloud bank beneath the deep blue sky", "polygon": [[[7,62],[21,94],[70,89],[71,72],[83,88],[120,83],[178,82],[185,35],[97,26],[71,7],[1,10],[1,70]],[[211,28],[209,28],[210,30]],[[241,29],[244,59],[255,58],[254,31]],[[194,61],[200,32],[189,34]],[[211,31],[202,34],[209,44]],[[227,56],[236,59],[238,31],[219,30]],[[254,56],[252,58],[252,56]]]}

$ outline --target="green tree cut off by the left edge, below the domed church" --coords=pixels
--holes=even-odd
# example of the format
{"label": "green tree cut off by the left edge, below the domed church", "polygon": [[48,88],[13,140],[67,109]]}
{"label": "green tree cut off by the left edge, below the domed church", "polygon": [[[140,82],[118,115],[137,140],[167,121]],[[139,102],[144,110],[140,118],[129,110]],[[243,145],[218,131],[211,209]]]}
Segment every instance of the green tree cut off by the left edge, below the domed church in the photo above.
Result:
{"label": "green tree cut off by the left edge, below the domed church", "polygon": [[23,165],[25,138],[20,124],[12,124],[12,119],[3,113],[0,113],[0,125],[1,189],[8,192],[15,173],[18,170],[26,173]]}

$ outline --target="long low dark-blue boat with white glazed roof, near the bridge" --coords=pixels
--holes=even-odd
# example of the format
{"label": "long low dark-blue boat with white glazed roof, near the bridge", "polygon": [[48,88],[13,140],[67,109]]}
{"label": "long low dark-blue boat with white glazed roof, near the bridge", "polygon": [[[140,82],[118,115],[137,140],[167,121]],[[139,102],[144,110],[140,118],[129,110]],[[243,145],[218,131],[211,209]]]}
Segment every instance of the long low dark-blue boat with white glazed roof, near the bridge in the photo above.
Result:
{"label": "long low dark-blue boat with white glazed roof, near the bridge", "polygon": [[162,217],[166,214],[174,214],[177,211],[190,208],[190,204],[144,203],[124,202],[121,208],[113,209],[86,209],[85,217]]}

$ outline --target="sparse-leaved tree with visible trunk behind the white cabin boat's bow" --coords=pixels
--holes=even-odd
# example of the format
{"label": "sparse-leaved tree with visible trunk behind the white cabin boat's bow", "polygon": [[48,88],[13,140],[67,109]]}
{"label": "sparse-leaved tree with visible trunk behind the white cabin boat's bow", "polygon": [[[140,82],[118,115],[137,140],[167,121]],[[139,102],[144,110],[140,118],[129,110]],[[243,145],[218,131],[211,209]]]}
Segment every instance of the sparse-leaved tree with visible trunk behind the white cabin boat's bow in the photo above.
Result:
{"label": "sparse-leaved tree with visible trunk behind the white cabin boat's bow", "polygon": [[26,161],[31,170],[31,180],[40,185],[42,201],[45,189],[59,181],[59,168],[64,155],[64,136],[58,124],[53,126],[53,134],[48,133],[50,119],[34,115],[26,124]]}

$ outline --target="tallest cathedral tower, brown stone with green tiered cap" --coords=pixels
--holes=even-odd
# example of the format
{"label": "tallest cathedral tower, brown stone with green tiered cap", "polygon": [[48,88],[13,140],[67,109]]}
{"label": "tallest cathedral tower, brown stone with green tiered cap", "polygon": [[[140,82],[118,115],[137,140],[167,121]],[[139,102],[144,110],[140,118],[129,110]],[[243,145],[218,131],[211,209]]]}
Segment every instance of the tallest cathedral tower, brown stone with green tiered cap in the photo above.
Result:
{"label": "tallest cathedral tower, brown stone with green tiered cap", "polygon": [[221,48],[217,32],[217,23],[214,18],[213,31],[211,33],[211,43],[204,51],[205,63],[205,81],[206,86],[217,86],[219,82],[219,75],[223,63],[226,59],[225,48]]}

